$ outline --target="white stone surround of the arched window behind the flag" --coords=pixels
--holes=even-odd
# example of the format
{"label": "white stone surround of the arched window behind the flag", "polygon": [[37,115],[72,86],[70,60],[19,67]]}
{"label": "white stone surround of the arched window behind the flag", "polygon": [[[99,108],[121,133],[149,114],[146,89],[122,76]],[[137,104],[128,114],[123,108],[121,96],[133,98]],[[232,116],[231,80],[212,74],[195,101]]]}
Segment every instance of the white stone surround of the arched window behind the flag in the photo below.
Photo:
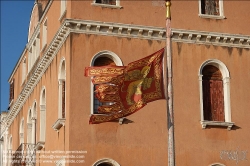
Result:
{"label": "white stone surround of the arched window behind the flag", "polygon": [[[107,58],[110,58],[112,59],[115,64],[117,66],[123,66],[123,63],[122,63],[122,60],[119,58],[118,55],[116,55],[114,52],[111,52],[111,51],[108,51],[108,50],[103,50],[103,51],[100,51],[98,52],[97,54],[95,54],[93,56],[93,58],[91,59],[91,63],[90,63],[90,66],[94,66],[94,62],[97,58],[99,57],[107,57]],[[92,84],[92,82],[90,82],[90,108],[91,108],[91,114],[94,114],[94,92],[93,92],[93,89],[94,89],[94,85]]]}

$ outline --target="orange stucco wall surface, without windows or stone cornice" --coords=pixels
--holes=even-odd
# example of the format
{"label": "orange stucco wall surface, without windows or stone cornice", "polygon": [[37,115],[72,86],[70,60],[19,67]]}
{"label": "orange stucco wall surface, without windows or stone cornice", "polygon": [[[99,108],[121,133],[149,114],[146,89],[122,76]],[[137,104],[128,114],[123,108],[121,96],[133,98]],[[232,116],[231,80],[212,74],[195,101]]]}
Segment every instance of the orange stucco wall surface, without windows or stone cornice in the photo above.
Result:
{"label": "orange stucco wall surface, without windows or stone cornice", "polygon": [[[92,1],[91,1],[92,2]],[[164,27],[165,7],[152,1],[121,1],[122,9],[92,6],[90,1],[67,1],[66,15],[60,18],[60,1],[53,1],[48,13],[41,20],[40,48],[42,49],[42,23],[48,21],[46,52],[59,27],[68,19],[96,20],[145,26]],[[173,1],[172,27],[186,30],[249,34],[249,2],[224,1],[226,19],[214,20],[198,17],[198,2]],[[191,10],[192,9],[192,10]],[[234,12],[231,12],[234,11]],[[235,16],[240,11],[245,11]],[[35,19],[33,20],[35,21]],[[33,25],[33,24],[31,24]],[[13,150],[19,146],[19,126],[24,118],[24,140],[27,140],[27,117],[33,103],[37,104],[36,142],[40,139],[40,95],[46,89],[46,140],[45,151],[83,150],[85,165],[93,165],[102,158],[111,158],[122,166],[167,165],[167,113],[166,100],[149,103],[146,107],[127,117],[128,123],[108,122],[89,125],[91,113],[90,78],[84,77],[84,69],[98,52],[109,50],[118,55],[123,64],[138,60],[165,46],[164,41],[124,38],[114,36],[70,33],[44,75],[25,101],[19,114],[9,128],[13,138]],[[172,43],[173,92],[175,121],[176,165],[209,165],[223,163],[235,165],[235,161],[222,160],[223,150],[248,150],[250,127],[248,109],[249,49]],[[28,60],[28,52],[24,57]],[[58,119],[58,74],[62,58],[66,64],[66,122],[59,132],[52,125]],[[203,62],[218,59],[230,72],[231,131],[225,127],[202,129],[200,124],[200,92],[198,71]],[[28,61],[26,62],[28,64]],[[15,79],[14,102],[21,93],[22,65],[13,73]],[[27,80],[26,80],[27,81]],[[37,154],[39,158],[39,154]],[[239,165],[249,165],[247,160]],[[49,165],[49,164],[47,164]],[[53,164],[50,164],[53,165]],[[66,164],[78,165],[78,164]]]}

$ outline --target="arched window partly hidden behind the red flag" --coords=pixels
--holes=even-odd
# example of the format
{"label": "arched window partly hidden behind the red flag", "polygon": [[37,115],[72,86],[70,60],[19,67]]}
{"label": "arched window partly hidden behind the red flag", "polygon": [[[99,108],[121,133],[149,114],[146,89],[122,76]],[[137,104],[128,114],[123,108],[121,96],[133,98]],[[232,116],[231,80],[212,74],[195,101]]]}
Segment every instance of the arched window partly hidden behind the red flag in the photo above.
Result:
{"label": "arched window partly hidden behind the red flag", "polygon": [[[106,66],[106,65],[116,65],[123,66],[121,59],[111,51],[101,51],[97,53],[92,61],[91,66]],[[94,85],[91,83],[91,114],[97,114],[98,107],[102,105],[94,95]]]}

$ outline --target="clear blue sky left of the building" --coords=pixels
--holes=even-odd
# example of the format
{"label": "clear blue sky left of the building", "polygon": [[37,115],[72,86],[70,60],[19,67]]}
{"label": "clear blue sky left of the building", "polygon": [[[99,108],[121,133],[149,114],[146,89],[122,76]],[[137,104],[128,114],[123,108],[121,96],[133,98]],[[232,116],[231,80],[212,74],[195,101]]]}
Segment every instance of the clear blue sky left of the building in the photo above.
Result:
{"label": "clear blue sky left of the building", "polygon": [[28,41],[29,21],[35,0],[0,0],[1,6],[1,109],[9,105],[8,79]]}

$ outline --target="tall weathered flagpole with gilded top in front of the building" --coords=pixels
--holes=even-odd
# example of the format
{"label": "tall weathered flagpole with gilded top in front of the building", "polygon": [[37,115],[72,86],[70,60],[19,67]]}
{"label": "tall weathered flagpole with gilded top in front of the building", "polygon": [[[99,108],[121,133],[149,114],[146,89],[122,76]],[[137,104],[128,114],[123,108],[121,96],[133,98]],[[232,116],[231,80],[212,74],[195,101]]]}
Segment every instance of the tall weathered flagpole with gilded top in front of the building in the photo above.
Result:
{"label": "tall weathered flagpole with gilded top in front of the building", "polygon": [[166,1],[166,51],[167,51],[167,91],[168,91],[168,166],[175,166],[174,153],[174,110],[172,88],[172,55],[171,55],[171,14],[170,1]]}

